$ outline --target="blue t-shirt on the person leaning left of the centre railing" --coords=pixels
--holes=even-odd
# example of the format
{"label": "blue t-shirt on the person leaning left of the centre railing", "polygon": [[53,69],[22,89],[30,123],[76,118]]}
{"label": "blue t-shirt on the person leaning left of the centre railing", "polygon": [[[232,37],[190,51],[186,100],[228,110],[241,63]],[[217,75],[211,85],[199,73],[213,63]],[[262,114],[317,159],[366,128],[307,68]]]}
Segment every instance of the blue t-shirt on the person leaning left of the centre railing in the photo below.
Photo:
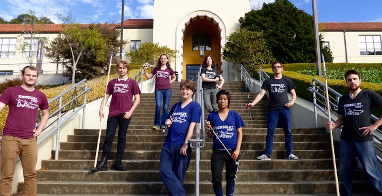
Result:
{"label": "blue t-shirt on the person leaning left of the centre railing", "polygon": [[178,104],[181,104],[181,102],[174,104],[168,113],[167,119],[174,113],[172,116],[173,122],[168,129],[163,146],[182,146],[190,123],[200,123],[202,108],[196,101],[191,101],[184,108],[181,108],[181,105],[176,108]]}

